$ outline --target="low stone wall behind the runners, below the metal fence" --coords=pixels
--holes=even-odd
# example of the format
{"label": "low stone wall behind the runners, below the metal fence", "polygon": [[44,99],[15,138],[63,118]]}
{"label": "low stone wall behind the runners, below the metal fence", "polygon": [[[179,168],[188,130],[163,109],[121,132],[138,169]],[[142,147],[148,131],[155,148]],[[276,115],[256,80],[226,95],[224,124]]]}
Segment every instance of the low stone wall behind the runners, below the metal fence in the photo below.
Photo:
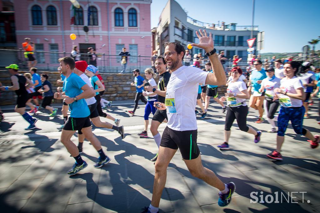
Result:
{"label": "low stone wall behind the runners, below the metal fence", "polygon": [[[21,71],[21,74],[26,72]],[[59,72],[37,72],[39,75],[48,74],[49,81],[52,85],[52,90],[56,91],[57,85],[56,81],[60,79]],[[136,94],[136,89],[134,86],[131,86],[130,83],[133,82],[134,77],[132,74],[104,74],[100,73],[102,76],[106,90],[102,98],[106,100],[133,100]],[[144,75],[142,75],[144,76]],[[156,76],[155,80],[158,82],[159,75]],[[10,75],[7,70],[0,70],[0,82],[4,86],[10,86],[11,80]],[[218,88],[219,96],[222,96],[226,92],[226,87],[221,86]],[[61,103],[62,100],[54,100],[55,103]],[[0,96],[0,105],[11,105],[16,104],[16,95],[14,91],[1,91]]]}

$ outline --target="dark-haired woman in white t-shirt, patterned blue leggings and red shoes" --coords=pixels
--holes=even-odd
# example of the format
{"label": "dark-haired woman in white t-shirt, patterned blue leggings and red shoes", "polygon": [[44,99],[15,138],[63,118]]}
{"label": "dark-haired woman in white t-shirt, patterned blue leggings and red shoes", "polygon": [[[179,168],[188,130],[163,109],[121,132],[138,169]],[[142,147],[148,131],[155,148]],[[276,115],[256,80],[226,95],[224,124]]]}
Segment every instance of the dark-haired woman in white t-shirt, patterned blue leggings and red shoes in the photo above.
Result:
{"label": "dark-haired woman in white t-shirt, patterned blue leggings and red shoes", "polygon": [[274,100],[279,99],[281,104],[278,116],[278,134],[277,134],[277,148],[272,153],[267,154],[268,158],[281,160],[280,154],[282,144],[284,142],[284,133],[287,129],[289,120],[295,133],[304,135],[310,142],[312,149],[319,144],[320,136],[313,136],[311,132],[302,127],[303,115],[305,108],[302,105],[304,100],[303,86],[299,78],[301,63],[298,61],[289,61],[284,64],[285,77],[280,81],[280,88],[276,88],[274,92]]}

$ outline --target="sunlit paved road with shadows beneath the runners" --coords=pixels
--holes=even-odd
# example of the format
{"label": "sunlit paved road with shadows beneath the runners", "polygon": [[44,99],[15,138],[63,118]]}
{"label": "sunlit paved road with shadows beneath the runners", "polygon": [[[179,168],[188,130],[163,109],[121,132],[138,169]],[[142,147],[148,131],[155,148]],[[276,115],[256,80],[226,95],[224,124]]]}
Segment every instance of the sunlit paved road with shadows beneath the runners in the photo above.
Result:
{"label": "sunlit paved road with shadows beneath the runners", "polygon": [[[310,107],[311,118],[304,120],[313,133],[319,133],[316,107]],[[87,142],[83,158],[89,166],[73,177],[66,172],[74,159],[59,141],[61,115],[49,118],[42,109],[35,116],[41,119],[37,129],[25,131],[27,123],[13,112],[12,106],[2,108],[6,117],[0,123],[2,212],[141,212],[150,204],[154,164],[149,159],[157,147],[152,137],[139,138],[136,134],[143,129],[143,105],[130,117],[125,110],[132,109],[131,102],[114,102],[108,112],[121,118],[126,137],[121,139],[115,131],[94,129],[112,161],[94,168],[98,154]],[[260,143],[254,144],[252,136],[234,124],[229,141],[232,149],[228,151],[216,147],[223,142],[225,114],[220,107],[211,104],[209,116],[197,120],[204,166],[224,182],[236,183],[236,193],[228,207],[218,206],[218,190],[192,177],[177,151],[167,169],[160,212],[320,212],[319,148],[311,149],[306,138],[295,135],[289,126],[284,161],[270,161],[265,155],[275,148],[276,134],[266,132],[269,124],[254,123],[256,118],[257,112],[251,109],[248,125],[263,131]],[[160,134],[165,126],[160,125]],[[72,140],[77,143],[76,136]],[[252,192],[257,196],[262,193],[264,200],[266,195],[275,199],[278,193],[280,203],[250,203]],[[298,203],[291,203],[291,199]]]}

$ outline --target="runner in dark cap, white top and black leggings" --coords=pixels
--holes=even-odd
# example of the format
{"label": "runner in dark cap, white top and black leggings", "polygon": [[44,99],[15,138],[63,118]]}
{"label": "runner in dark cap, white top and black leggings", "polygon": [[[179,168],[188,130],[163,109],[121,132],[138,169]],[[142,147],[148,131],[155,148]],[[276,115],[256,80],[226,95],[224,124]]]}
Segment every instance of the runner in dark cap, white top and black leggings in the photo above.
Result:
{"label": "runner in dark cap, white top and black leggings", "polygon": [[273,100],[273,96],[275,95],[274,89],[280,87],[281,79],[276,77],[274,68],[267,69],[266,74],[267,78],[262,80],[259,92],[265,92],[263,108],[267,120],[272,126],[271,130],[268,130],[267,132],[277,132],[276,124],[273,119],[277,118],[277,116],[275,117],[275,113],[279,106],[279,100]]}

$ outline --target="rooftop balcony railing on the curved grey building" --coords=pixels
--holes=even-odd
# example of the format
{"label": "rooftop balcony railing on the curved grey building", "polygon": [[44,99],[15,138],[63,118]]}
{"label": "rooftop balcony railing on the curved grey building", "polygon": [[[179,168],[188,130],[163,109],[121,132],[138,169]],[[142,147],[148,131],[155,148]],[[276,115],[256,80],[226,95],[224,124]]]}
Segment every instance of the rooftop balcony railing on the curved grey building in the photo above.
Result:
{"label": "rooftop balcony railing on the curved grey building", "polygon": [[[202,21],[195,20],[187,16],[187,22],[200,28],[214,29],[214,30],[230,30],[230,31],[251,31],[251,26],[237,26],[234,24],[221,25],[221,24],[210,24]],[[253,26],[253,30],[259,31],[259,26]]]}

